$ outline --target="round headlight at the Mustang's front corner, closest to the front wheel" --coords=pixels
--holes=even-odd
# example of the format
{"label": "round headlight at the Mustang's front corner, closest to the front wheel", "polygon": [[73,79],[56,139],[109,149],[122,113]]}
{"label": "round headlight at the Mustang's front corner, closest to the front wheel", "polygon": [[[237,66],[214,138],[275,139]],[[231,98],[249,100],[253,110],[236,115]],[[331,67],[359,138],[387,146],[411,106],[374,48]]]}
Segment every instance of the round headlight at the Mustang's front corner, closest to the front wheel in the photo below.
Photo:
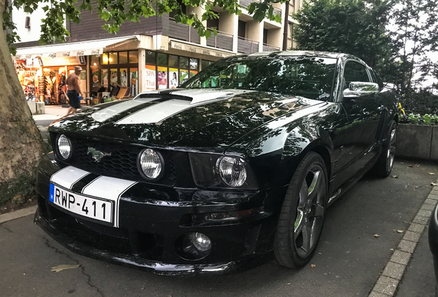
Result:
{"label": "round headlight at the Mustang's front corner, closest to the front wheel", "polygon": [[244,160],[239,157],[221,157],[217,164],[220,177],[228,186],[239,187],[247,180]]}

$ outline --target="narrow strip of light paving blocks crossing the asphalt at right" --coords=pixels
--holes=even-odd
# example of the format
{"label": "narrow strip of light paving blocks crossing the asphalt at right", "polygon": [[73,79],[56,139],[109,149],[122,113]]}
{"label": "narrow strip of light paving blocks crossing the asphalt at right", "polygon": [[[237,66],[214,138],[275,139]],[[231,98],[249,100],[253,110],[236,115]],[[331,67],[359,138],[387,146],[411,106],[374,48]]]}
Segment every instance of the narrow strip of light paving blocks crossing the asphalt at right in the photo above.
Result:
{"label": "narrow strip of light paving blocks crossing the asphalt at right", "polygon": [[399,242],[399,245],[394,250],[388,263],[380,274],[379,279],[375,283],[373,290],[368,297],[388,297],[394,296],[399,281],[403,278],[406,267],[412,257],[421,234],[426,227],[432,211],[438,203],[438,186],[433,186],[432,190],[423,205],[418,210],[417,215],[410,222],[408,230],[404,232],[404,236]]}

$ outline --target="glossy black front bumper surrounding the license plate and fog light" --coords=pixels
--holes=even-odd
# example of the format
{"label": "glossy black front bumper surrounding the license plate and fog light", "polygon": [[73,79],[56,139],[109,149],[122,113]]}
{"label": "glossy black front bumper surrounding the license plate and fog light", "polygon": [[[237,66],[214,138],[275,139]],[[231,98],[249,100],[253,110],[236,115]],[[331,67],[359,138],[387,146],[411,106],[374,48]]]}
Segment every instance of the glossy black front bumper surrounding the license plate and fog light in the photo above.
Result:
{"label": "glossy black front bumper surrounding the license plate and fog light", "polygon": [[[39,170],[39,209],[35,223],[73,252],[156,274],[227,274],[273,259],[278,220],[273,210],[278,208],[281,199],[272,198],[284,197],[285,188],[240,192],[234,196],[229,192],[225,196],[238,197],[231,200],[218,199],[224,197],[224,192],[219,191],[155,188],[156,195],[160,191],[164,193],[161,199],[145,198],[149,196],[144,192],[140,192],[140,197],[121,197],[118,228],[114,228],[60,210],[50,202],[52,173],[47,170],[48,166],[55,165],[53,162],[45,164]],[[199,214],[254,208],[261,211],[234,222],[198,223],[191,219]],[[181,254],[182,238],[191,232],[201,232],[211,239],[210,252],[200,259],[189,259]]]}

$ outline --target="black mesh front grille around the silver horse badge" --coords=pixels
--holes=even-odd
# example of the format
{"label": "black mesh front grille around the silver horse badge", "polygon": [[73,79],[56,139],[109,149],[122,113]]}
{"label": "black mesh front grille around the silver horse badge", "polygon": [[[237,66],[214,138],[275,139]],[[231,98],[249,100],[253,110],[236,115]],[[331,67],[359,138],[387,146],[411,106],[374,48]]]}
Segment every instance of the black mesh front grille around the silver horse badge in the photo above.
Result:
{"label": "black mesh front grille around the silver horse badge", "polygon": [[[143,151],[145,147],[130,146],[115,142],[103,142],[102,140],[90,140],[80,137],[68,137],[72,142],[72,157],[67,161],[63,161],[57,157],[61,162],[98,175],[148,182],[147,179],[140,175],[137,168],[138,153]],[[92,154],[88,152],[89,148],[94,148],[111,155],[105,155],[99,162],[96,162]],[[173,157],[171,153],[167,151],[159,152],[163,155],[165,173],[161,179],[155,181],[153,184],[173,186],[176,176]]]}

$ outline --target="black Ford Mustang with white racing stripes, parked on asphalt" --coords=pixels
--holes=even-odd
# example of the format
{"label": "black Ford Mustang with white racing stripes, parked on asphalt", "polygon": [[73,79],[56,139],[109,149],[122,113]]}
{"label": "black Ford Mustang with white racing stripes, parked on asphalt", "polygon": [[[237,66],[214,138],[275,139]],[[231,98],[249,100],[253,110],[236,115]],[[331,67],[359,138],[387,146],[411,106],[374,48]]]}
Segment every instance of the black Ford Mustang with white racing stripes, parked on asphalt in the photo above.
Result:
{"label": "black Ford Mustang with white racing stripes, parked on asphalt", "polygon": [[354,56],[213,63],[178,89],[50,126],[35,221],[66,248],[158,274],[302,267],[327,206],[393,167],[395,91]]}

